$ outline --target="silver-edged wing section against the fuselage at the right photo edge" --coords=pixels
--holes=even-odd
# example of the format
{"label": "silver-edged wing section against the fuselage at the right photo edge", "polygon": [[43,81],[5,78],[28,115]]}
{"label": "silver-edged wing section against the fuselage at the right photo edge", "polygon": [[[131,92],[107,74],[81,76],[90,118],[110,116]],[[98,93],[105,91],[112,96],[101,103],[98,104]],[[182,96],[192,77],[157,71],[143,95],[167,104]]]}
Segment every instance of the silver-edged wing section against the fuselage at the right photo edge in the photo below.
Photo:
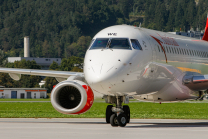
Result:
{"label": "silver-edged wing section against the fuselage at the right photo edge", "polygon": [[194,91],[208,89],[208,75],[189,75],[184,76],[183,84]]}

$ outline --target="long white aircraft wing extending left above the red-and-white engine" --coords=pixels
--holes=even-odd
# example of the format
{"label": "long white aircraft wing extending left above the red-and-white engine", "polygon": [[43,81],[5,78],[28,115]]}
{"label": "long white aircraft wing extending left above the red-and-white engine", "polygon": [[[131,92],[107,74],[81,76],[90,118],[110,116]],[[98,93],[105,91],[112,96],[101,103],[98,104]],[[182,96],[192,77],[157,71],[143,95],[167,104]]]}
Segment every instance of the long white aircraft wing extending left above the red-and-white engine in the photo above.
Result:
{"label": "long white aircraft wing extending left above the red-and-white engine", "polygon": [[82,77],[82,78],[84,77],[84,73],[82,72],[54,71],[54,70],[0,68],[0,72],[9,73],[10,77],[14,80],[19,80],[21,78],[21,74],[55,77],[59,82],[68,79],[70,76]]}

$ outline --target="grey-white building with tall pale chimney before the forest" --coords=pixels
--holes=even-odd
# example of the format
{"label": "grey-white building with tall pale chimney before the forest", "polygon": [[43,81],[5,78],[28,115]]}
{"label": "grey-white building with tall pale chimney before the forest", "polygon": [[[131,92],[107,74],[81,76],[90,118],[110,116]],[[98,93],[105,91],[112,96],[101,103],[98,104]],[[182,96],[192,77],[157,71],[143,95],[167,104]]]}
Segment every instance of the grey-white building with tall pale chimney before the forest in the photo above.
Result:
{"label": "grey-white building with tall pale chimney before the forest", "polygon": [[58,65],[61,65],[61,58],[36,58],[30,57],[30,46],[29,46],[29,37],[24,37],[24,57],[8,57],[7,60],[10,63],[15,61],[21,61],[25,59],[26,61],[34,60],[38,65],[41,66],[41,69],[49,69],[49,66],[55,61]]}

